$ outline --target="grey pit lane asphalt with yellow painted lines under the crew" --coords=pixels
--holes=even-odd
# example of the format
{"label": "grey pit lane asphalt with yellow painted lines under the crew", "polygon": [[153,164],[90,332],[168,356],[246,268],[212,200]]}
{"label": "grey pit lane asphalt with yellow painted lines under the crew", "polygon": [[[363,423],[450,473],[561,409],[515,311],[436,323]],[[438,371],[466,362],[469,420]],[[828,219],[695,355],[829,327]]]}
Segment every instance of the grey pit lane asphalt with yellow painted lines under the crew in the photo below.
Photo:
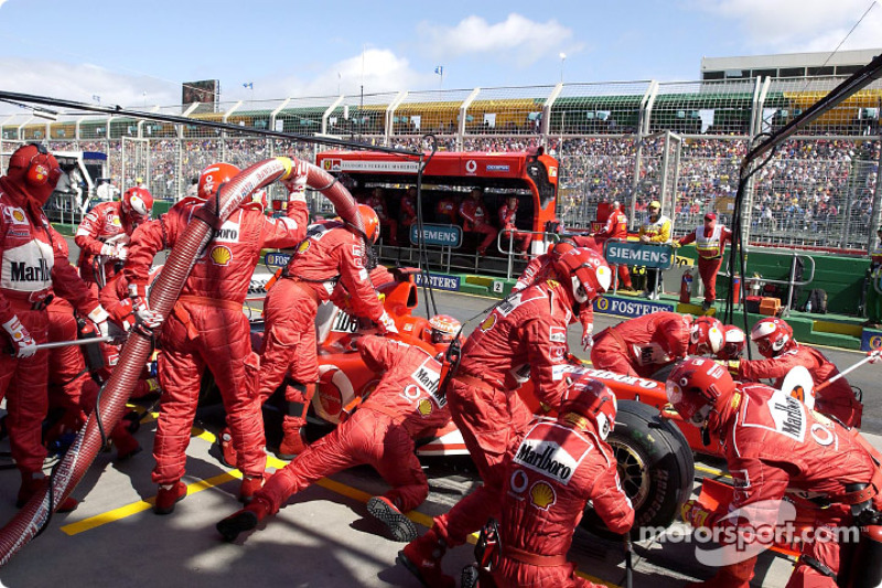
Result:
{"label": "grey pit lane asphalt with yellow painted lines under the crew", "polygon": [[[494,303],[491,299],[438,291],[435,300],[439,312],[460,319],[471,318]],[[596,322],[600,330],[619,321],[598,317]],[[584,357],[576,327],[569,335],[572,350]],[[840,367],[861,356],[829,350],[825,353]],[[863,376],[868,383],[862,386],[864,394],[876,370],[865,366],[856,372],[857,376],[870,372]],[[852,384],[860,381],[849,379]],[[864,402],[868,403],[867,397]],[[217,419],[212,415],[200,415],[200,419],[197,426],[214,426],[216,430]],[[147,417],[137,434],[146,450],[126,462],[114,462],[111,453],[98,456],[73,493],[83,501],[80,506],[73,513],[55,515],[45,533],[0,568],[3,586],[419,586],[395,564],[404,544],[387,539],[383,525],[367,515],[364,503],[386,489],[369,468],[322,480],[294,496],[257,531],[227,544],[218,537],[214,524],[239,506],[237,472],[217,461],[213,435],[194,429],[184,478],[190,494],[173,514],[154,515],[149,502],[155,494],[150,481],[154,430],[155,423]],[[882,439],[870,438],[878,448],[882,447]],[[2,450],[8,450],[8,441],[0,443]],[[445,512],[477,483],[467,460],[434,458],[424,464],[430,495],[409,513],[420,532],[431,524],[431,516]],[[270,458],[270,466],[280,467],[281,462]],[[716,475],[720,467],[718,462],[702,462],[697,474]],[[14,470],[2,471],[0,477],[4,479],[0,483],[0,521],[9,521],[15,512],[19,477]],[[610,586],[624,585],[621,545],[579,530],[570,557],[580,571]],[[445,556],[444,569],[459,577],[472,559],[471,546],[458,547]],[[754,586],[783,586],[790,569],[786,558],[765,553],[760,557]],[[646,541],[635,545],[634,586],[673,588],[712,574],[711,568],[697,562],[692,544]]]}

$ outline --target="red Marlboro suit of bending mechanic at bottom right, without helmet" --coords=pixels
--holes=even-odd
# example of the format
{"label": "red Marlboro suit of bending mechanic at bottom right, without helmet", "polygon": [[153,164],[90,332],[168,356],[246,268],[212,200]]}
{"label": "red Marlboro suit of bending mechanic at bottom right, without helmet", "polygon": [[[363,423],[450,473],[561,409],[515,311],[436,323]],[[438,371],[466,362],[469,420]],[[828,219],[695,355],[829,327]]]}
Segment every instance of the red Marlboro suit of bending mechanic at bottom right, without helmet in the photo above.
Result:
{"label": "red Marlboro suit of bending mechanic at bottom right, without helmet", "polygon": [[[741,516],[736,521],[752,524],[754,528],[757,524],[775,524],[777,510],[772,512],[771,522],[764,518],[764,513],[767,517],[770,511],[768,503],[763,504],[763,501],[777,501],[789,492],[795,493],[800,507],[814,506],[816,530],[851,524],[847,505],[850,493],[846,485],[870,483],[875,487],[871,494],[882,488],[882,474],[867,449],[861,447],[858,434],[768,386],[738,384],[738,391],[740,405],[724,410],[720,425],[711,425],[719,431],[735,482],[729,512],[740,509]],[[800,499],[800,493],[803,496],[810,494],[814,502]],[[875,509],[882,507],[879,494],[873,495],[872,502]],[[706,524],[728,524],[721,521],[725,514],[711,515]],[[803,556],[811,556],[838,573],[840,546],[836,533],[830,533],[828,538],[831,541],[805,543]],[[747,588],[755,559],[754,556],[727,566],[724,569],[732,577],[716,578],[712,586]],[[788,588],[797,586],[833,588],[836,581],[800,559],[787,582]]]}

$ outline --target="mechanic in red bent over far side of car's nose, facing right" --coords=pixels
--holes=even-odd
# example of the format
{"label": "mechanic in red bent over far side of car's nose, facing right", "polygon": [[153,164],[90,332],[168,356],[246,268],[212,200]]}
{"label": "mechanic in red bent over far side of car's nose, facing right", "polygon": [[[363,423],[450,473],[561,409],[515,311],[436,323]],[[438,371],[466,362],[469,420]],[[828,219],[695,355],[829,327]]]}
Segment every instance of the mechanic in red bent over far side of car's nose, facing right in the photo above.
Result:
{"label": "mechanic in red bent over far side of car's nose, facing right", "polygon": [[652,377],[687,355],[719,353],[724,336],[717,319],[653,312],[601,331],[594,339],[591,363],[596,370]]}

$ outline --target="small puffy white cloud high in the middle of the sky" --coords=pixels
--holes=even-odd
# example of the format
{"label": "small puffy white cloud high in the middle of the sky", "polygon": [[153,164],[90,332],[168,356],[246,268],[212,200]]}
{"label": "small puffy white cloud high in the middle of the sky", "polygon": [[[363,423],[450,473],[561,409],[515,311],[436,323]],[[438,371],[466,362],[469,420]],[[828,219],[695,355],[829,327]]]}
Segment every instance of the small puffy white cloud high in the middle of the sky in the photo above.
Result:
{"label": "small puffy white cloud high in the middle of the sky", "polygon": [[417,25],[417,36],[424,51],[438,60],[482,55],[514,61],[520,66],[581,49],[572,41],[572,30],[556,20],[536,22],[520,14],[509,14],[495,24],[481,17],[467,17],[455,26],[423,21]]}

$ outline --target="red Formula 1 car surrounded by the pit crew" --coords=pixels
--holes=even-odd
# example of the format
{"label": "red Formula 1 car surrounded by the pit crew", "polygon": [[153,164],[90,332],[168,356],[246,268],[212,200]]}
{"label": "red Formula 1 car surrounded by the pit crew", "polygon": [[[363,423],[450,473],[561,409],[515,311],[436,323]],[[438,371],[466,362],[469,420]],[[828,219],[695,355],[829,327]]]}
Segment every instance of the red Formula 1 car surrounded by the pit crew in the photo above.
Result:
{"label": "red Formula 1 car surrounded by the pit crew", "polygon": [[[431,353],[437,350],[430,341],[428,319],[413,314],[418,303],[415,268],[398,268],[390,272],[391,280],[377,286],[384,297],[386,311],[394,318],[400,339],[420,345]],[[262,293],[269,275],[256,275],[252,280],[255,299]],[[376,281],[376,280],[375,280]],[[376,331],[370,321],[359,320],[336,306],[325,302],[319,309],[315,321],[319,342],[320,382],[309,413],[308,436],[315,437],[341,423],[348,411],[365,397],[378,382],[377,374],[368,370],[352,345],[359,334]],[[260,349],[263,321],[251,320],[252,346]],[[619,398],[615,429],[607,442],[619,462],[622,487],[634,505],[636,517],[634,535],[641,527],[665,527],[670,524],[680,505],[692,491],[695,443],[678,428],[674,411],[664,409],[667,398],[664,384],[644,378],[628,377],[607,371],[592,370],[571,357],[573,375],[588,374],[604,382]],[[209,374],[206,374],[209,377]],[[213,385],[203,383],[205,395],[211,395]],[[215,388],[216,391],[216,388]],[[519,394],[531,408],[538,408],[533,385],[527,382]],[[277,396],[281,396],[278,394]],[[265,404],[267,442],[272,447],[281,436],[281,407],[273,407],[276,397]],[[690,431],[693,427],[685,426]],[[418,456],[467,456],[467,449],[453,423],[435,432],[430,439],[418,441]],[[583,526],[603,534],[605,526],[589,509]]]}

